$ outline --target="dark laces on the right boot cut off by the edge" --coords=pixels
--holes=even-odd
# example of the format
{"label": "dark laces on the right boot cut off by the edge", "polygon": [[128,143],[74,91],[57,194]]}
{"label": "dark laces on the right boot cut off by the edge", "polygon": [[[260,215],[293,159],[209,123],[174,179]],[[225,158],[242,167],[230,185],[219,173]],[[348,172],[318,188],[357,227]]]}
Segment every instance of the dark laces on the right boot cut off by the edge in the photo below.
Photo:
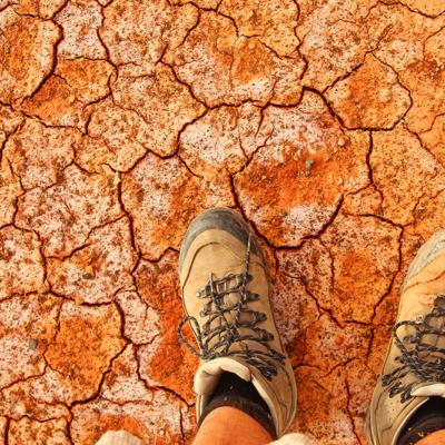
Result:
{"label": "dark laces on the right boot cut off by the edge", "polygon": [[[419,383],[445,382],[445,349],[422,340],[423,336],[427,334],[445,336],[444,329],[436,328],[428,324],[431,318],[445,317],[445,310],[438,306],[441,300],[445,300],[445,295],[437,296],[434,301],[433,313],[416,317],[414,320],[397,323],[394,326],[394,340],[402,353],[400,356],[395,357],[395,360],[400,363],[400,366],[392,373],[384,375],[382,377],[382,384],[383,386],[392,385],[389,387],[389,397],[402,394],[402,403],[413,397],[411,395],[412,388]],[[406,325],[413,327],[414,332],[411,335],[405,335],[405,337],[400,339],[397,335],[397,330]],[[414,345],[414,347],[408,350],[405,344]],[[431,354],[427,353],[439,353],[443,357],[432,357]],[[411,373],[414,374],[417,379],[403,385],[400,380]]]}

